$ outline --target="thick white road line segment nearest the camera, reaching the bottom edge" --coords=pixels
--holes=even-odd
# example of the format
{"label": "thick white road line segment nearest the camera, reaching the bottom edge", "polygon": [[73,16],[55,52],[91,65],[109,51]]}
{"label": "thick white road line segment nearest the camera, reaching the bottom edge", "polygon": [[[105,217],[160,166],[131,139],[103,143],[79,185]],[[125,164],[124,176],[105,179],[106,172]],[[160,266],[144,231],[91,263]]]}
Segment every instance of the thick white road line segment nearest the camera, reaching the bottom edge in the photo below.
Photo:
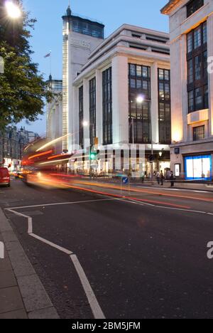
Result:
{"label": "thick white road line segment nearest the camera, reaching the bottom edge", "polygon": [[89,301],[89,305],[94,315],[94,319],[105,319],[104,313],[102,312],[102,309],[99,306],[99,302],[97,301],[97,298],[94,295],[92,287],[89,284],[89,281],[84,273],[80,261],[77,259],[76,255],[70,255],[70,258],[72,260],[73,265],[75,266],[75,270],[77,271],[78,276],[80,277],[80,281],[82,282],[84,292],[87,295],[87,300]]}

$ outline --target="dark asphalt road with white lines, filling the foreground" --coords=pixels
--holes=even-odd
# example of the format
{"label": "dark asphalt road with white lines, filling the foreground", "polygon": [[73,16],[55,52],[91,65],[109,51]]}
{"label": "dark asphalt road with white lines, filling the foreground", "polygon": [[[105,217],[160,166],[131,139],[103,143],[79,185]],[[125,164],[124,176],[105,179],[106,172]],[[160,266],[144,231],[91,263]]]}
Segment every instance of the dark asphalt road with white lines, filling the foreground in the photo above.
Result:
{"label": "dark asphalt road with white lines, filling the foreground", "polygon": [[130,201],[84,186],[0,188],[60,317],[213,318],[213,194],[141,189]]}

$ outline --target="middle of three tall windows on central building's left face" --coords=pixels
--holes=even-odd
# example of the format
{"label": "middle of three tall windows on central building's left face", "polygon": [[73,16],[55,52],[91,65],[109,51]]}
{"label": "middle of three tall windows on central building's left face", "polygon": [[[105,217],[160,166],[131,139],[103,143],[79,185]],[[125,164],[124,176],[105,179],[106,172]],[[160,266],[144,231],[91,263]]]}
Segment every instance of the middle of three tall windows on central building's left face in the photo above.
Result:
{"label": "middle of three tall windows on central building's left face", "polygon": [[91,145],[94,145],[96,128],[96,78],[93,78],[89,81],[89,137]]}

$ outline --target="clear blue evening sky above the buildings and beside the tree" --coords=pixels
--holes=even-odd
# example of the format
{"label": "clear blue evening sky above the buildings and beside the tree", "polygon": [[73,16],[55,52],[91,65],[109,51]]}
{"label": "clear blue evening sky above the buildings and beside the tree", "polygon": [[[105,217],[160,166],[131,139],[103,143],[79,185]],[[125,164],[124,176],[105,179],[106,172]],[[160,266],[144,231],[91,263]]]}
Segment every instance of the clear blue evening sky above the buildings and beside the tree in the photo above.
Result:
{"label": "clear blue evening sky above the buildings and beside the tree", "polygon": [[[102,21],[105,37],[123,23],[168,32],[168,17],[160,14],[167,0],[71,0],[73,13]],[[52,51],[53,78],[62,78],[62,15],[68,0],[23,0],[26,11],[37,18],[32,31],[33,60],[45,78],[50,75],[50,60],[44,56]],[[45,116],[31,125],[22,122],[26,129],[45,134]]]}

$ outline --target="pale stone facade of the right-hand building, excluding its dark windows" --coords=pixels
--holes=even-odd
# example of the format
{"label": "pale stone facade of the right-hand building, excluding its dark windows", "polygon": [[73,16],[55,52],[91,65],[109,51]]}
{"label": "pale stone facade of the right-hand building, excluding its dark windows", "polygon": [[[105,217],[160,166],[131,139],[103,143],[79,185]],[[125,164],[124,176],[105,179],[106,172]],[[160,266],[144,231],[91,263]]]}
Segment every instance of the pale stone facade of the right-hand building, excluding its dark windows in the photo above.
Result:
{"label": "pale stone facade of the right-hand building, excluding its dark windows", "polygon": [[[173,0],[162,9],[170,20],[170,61],[172,101],[171,167],[180,164],[180,176],[187,177],[187,157],[212,156],[213,163],[213,74],[208,74],[208,108],[188,111],[187,94],[187,34],[207,21],[207,55],[213,56],[213,1],[204,0],[203,6],[187,14],[187,5],[192,1]],[[204,126],[204,137],[193,138],[195,127]],[[208,162],[210,164],[210,162]],[[200,166],[195,166],[200,167]],[[209,165],[210,167],[210,165]],[[191,171],[188,170],[188,172]],[[195,170],[195,174],[197,171]],[[202,178],[198,176],[192,178]],[[213,176],[213,169],[210,170]],[[190,178],[190,177],[188,177]],[[207,177],[207,174],[203,178]]]}

